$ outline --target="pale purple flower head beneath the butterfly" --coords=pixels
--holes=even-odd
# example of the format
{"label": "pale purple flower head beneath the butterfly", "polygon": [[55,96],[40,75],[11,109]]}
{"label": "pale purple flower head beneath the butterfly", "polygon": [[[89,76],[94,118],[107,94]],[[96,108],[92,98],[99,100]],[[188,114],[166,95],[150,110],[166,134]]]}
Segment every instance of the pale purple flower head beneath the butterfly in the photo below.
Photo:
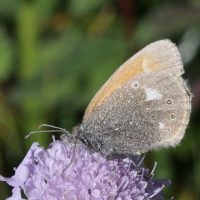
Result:
{"label": "pale purple flower head beneath the butterfly", "polygon": [[162,189],[171,182],[153,179],[141,157],[133,161],[138,166],[122,156],[109,160],[80,144],[74,148],[53,138],[46,151],[34,143],[15,175],[0,180],[14,187],[7,200],[22,200],[20,190],[29,200],[164,199]]}

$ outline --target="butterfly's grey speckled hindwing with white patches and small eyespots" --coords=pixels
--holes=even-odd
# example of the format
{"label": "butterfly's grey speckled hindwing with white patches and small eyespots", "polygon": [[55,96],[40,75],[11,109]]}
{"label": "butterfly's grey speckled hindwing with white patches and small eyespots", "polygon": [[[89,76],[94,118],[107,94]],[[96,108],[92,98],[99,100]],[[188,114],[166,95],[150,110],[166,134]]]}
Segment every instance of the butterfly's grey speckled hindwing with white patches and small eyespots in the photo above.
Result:
{"label": "butterfly's grey speckled hindwing with white patches and small eyespots", "polygon": [[101,152],[137,154],[175,146],[189,121],[190,96],[183,79],[161,70],[130,79],[83,122]]}

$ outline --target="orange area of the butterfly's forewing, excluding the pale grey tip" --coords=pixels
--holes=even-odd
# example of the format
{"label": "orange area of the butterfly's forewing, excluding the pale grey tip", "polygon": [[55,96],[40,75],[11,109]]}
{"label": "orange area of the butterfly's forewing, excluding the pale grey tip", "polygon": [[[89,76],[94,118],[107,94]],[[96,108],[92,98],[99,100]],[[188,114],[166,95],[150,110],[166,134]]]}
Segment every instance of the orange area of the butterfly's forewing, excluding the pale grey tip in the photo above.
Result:
{"label": "orange area of the butterfly's forewing, excluding the pale grey tip", "polygon": [[161,69],[162,62],[156,63],[152,55],[142,54],[127,60],[101,87],[89,103],[84,119],[88,118],[90,113],[108,98],[119,86],[140,74]]}

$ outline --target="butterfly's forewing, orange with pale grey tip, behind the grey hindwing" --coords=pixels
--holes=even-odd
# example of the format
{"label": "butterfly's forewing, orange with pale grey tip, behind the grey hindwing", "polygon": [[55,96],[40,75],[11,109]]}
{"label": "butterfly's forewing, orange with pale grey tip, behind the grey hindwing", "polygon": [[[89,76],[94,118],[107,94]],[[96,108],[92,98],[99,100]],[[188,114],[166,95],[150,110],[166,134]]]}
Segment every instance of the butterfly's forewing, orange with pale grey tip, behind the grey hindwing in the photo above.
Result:
{"label": "butterfly's forewing, orange with pale grey tip, behind the grey hindwing", "polygon": [[177,76],[184,73],[177,47],[169,40],[160,40],[147,45],[120,66],[93,97],[85,111],[84,119],[126,81],[140,74],[162,69],[169,70]]}

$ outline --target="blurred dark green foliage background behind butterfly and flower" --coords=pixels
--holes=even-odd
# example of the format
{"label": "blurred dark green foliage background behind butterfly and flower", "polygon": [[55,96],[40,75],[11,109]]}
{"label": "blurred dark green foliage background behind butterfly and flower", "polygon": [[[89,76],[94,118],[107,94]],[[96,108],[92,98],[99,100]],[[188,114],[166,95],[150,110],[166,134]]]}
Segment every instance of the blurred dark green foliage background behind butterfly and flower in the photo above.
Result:
{"label": "blurred dark green foliage background behind butterfly and flower", "polygon": [[[200,3],[198,0],[0,0],[0,174],[10,177],[40,124],[71,130],[109,76],[150,42],[169,38],[183,57],[193,114],[182,144],[148,153],[166,199],[200,199]],[[58,137],[58,136],[57,136]],[[0,182],[0,196],[11,188]]]}

